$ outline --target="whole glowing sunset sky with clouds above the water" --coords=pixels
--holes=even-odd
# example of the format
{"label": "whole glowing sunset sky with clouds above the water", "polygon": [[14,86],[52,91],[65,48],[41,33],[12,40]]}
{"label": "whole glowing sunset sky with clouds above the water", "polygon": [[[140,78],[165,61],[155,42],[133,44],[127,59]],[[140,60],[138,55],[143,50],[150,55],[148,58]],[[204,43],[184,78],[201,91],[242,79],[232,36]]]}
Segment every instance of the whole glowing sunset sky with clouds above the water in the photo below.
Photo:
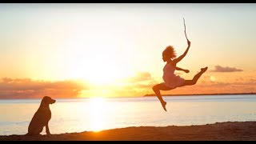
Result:
{"label": "whole glowing sunset sky with clouds above the water", "polygon": [[162,94],[256,92],[256,4],[1,3],[0,98],[134,97],[162,82],[162,51],[191,46]]}

